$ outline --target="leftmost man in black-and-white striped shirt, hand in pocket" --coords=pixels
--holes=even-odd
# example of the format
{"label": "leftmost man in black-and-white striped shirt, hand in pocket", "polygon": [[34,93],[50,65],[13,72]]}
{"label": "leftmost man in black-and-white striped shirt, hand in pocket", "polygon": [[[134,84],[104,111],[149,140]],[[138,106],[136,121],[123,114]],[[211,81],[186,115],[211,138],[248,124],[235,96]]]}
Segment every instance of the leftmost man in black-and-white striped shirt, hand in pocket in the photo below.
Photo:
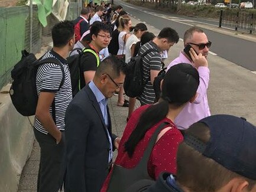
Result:
{"label": "leftmost man in black-and-white striped shirt, hand in pocket", "polygon": [[[64,116],[72,100],[72,86],[66,57],[74,46],[74,25],[71,21],[54,25],[51,31],[53,49],[43,58],[57,58],[56,63],[38,67],[38,94],[34,134],[40,145],[40,167],[37,191],[59,190],[64,155]],[[60,66],[61,65],[61,66]]]}

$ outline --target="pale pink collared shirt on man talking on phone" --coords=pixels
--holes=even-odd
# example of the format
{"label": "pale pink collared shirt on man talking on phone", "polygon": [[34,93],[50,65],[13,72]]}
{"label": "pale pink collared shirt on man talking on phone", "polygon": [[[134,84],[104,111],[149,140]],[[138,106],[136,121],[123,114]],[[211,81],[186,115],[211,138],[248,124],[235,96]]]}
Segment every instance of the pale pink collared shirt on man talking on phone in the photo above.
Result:
{"label": "pale pink collared shirt on man talking on phone", "polygon": [[[179,63],[192,64],[192,62],[189,61],[189,59],[181,52],[179,57],[171,61],[171,63],[167,67],[167,70],[170,69],[171,66]],[[198,67],[197,71],[199,73],[200,79],[199,87],[196,91],[198,95],[195,102],[187,103],[187,105],[182,109],[182,112],[180,112],[175,119],[174,123],[179,129],[187,129],[190,125],[199,121],[200,119],[210,116],[210,109],[207,98],[210,71],[208,67],[203,66]]]}

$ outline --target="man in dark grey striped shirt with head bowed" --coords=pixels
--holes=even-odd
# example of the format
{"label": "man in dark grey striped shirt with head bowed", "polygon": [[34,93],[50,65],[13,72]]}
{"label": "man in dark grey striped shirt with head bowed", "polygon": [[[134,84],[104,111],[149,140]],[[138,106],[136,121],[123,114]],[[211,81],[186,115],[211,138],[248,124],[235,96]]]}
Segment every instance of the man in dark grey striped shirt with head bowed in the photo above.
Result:
{"label": "man in dark grey striped shirt with head bowed", "polygon": [[160,51],[169,50],[171,46],[178,43],[179,35],[175,30],[170,27],[163,28],[157,37],[153,41],[145,43],[139,50],[139,55],[145,53],[145,51],[154,48],[155,51],[151,51],[146,54],[142,61],[143,69],[143,79],[145,82],[145,87],[143,92],[138,99],[141,105],[152,104],[155,100],[155,92],[153,88],[153,82],[158,72],[161,70],[161,55]]}

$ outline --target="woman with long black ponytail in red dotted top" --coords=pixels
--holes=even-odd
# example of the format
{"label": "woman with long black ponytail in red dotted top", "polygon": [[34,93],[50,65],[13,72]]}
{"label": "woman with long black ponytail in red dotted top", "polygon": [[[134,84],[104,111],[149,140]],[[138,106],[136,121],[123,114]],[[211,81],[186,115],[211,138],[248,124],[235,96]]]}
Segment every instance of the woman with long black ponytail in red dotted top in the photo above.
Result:
{"label": "woman with long black ponytail in red dotted top", "polygon": [[[184,106],[195,100],[198,86],[199,74],[192,65],[181,63],[171,67],[161,86],[161,99],[154,105],[141,106],[132,113],[120,141],[115,164],[134,168],[155,130],[161,123],[167,122],[151,151],[148,175],[155,180],[161,171],[176,174],[176,153],[183,136],[173,122]],[[112,171],[105,180],[102,192],[107,190],[111,174]]]}

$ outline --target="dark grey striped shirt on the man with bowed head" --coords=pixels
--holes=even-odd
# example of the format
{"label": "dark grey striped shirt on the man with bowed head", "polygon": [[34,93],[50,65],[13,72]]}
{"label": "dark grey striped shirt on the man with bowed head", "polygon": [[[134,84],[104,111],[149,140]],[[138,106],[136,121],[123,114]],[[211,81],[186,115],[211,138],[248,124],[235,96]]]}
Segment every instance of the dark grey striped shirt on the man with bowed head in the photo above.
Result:
{"label": "dark grey striped shirt on the man with bowed head", "polygon": [[[145,53],[145,51],[149,50],[150,48],[155,48],[156,50],[160,51],[160,49],[157,47],[157,45],[153,41],[150,41],[150,42],[142,45],[138,54],[141,55],[141,54]],[[152,51],[152,52],[148,53],[142,59],[142,61],[143,61],[143,64],[142,64],[143,79],[144,79],[144,81],[147,80],[147,84],[145,84],[141,96],[138,97],[141,105],[154,103],[155,91],[154,91],[154,87],[150,81],[150,70],[160,71],[161,66],[162,66],[161,60],[162,60],[161,55],[157,51]]]}

